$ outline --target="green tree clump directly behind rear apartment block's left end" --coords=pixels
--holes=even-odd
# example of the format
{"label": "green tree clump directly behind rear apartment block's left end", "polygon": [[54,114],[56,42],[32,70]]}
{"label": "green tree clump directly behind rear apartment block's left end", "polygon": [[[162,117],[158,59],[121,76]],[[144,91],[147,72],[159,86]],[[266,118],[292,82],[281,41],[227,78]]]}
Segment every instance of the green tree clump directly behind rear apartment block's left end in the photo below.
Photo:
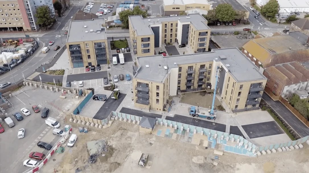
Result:
{"label": "green tree clump directly behind rear apartment block's left end", "polygon": [[125,10],[119,13],[119,19],[122,23],[122,28],[129,28],[129,16],[130,15],[142,15],[143,18],[147,17],[147,12],[142,11],[138,6],[134,7],[132,11]]}

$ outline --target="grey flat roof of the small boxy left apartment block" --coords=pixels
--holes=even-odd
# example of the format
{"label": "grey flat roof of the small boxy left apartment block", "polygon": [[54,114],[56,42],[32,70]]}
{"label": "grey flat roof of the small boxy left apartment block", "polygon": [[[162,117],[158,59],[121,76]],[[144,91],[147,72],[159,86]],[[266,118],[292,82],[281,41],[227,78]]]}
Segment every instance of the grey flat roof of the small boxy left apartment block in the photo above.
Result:
{"label": "grey flat roof of the small boxy left apartment block", "polygon": [[104,18],[71,21],[66,42],[105,40],[106,30],[102,24],[105,24]]}

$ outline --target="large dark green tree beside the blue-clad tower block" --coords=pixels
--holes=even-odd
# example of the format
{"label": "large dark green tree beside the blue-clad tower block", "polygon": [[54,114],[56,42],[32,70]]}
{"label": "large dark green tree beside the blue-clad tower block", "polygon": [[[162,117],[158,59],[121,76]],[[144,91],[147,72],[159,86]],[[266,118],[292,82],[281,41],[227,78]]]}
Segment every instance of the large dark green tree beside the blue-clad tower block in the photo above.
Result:
{"label": "large dark green tree beside the blue-clad tower block", "polygon": [[51,16],[51,14],[52,11],[48,6],[38,6],[36,8],[36,14],[34,15],[37,18],[36,24],[43,28],[46,28],[49,25],[53,24],[55,22],[55,19]]}

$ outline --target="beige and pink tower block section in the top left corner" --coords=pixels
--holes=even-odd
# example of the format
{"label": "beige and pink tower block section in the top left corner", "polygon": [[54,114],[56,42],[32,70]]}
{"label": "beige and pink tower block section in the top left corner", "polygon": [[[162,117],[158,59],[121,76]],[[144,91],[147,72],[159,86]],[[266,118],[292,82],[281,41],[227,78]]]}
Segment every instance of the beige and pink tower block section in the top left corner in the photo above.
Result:
{"label": "beige and pink tower block section in the top left corner", "polygon": [[31,26],[22,0],[1,0],[0,15],[1,31],[31,31]]}

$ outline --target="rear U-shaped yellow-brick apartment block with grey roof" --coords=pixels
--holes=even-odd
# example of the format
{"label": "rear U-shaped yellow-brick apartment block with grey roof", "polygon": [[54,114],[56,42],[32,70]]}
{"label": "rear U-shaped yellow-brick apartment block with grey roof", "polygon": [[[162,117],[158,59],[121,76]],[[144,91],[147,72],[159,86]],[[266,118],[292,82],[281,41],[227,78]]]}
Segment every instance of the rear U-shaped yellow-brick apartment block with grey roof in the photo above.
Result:
{"label": "rear U-shaped yellow-brick apartment block with grey roof", "polygon": [[192,53],[208,51],[210,28],[200,14],[142,18],[129,16],[129,35],[137,56],[155,54],[164,43],[186,44]]}

